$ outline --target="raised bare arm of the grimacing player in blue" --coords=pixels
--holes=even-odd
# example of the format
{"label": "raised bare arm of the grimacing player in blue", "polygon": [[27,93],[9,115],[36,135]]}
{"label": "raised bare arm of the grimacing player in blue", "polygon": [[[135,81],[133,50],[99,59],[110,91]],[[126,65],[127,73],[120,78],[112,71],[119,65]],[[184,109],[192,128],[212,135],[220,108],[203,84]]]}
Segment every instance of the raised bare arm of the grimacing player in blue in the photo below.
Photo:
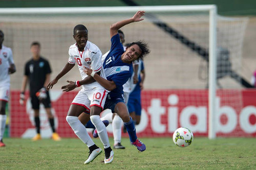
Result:
{"label": "raised bare arm of the grimacing player in blue", "polygon": [[118,33],[118,30],[120,28],[122,28],[123,26],[125,26],[125,25],[127,25],[129,23],[132,23],[132,22],[138,22],[138,21],[143,20],[144,18],[141,18],[141,17],[144,15],[144,13],[145,13],[145,11],[138,11],[130,19],[124,19],[124,20],[118,21],[116,23],[113,23],[110,26],[110,38],[112,38],[114,35],[116,35]]}

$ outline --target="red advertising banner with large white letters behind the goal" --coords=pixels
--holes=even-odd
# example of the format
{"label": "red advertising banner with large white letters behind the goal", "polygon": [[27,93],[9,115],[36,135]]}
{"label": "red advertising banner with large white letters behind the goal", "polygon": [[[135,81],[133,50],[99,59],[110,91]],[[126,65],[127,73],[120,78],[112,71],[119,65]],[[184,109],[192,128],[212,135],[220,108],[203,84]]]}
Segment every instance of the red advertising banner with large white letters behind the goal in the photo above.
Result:
{"label": "red advertising banner with large white letters behind the goal", "polygon": [[[76,135],[66,122],[66,115],[77,91],[50,91],[55,126],[61,137]],[[26,93],[27,98],[29,97]],[[144,90],[141,96],[141,122],[136,126],[139,137],[172,137],[179,127],[196,136],[208,135],[208,91],[195,89]],[[33,110],[28,99],[19,104],[19,91],[11,91],[10,136],[35,135]],[[41,134],[50,137],[47,114],[40,106]],[[223,137],[256,136],[256,90],[219,90],[216,98],[215,131]],[[107,128],[112,136],[112,126]],[[90,131],[88,131],[89,134]],[[127,137],[127,134],[122,134]]]}

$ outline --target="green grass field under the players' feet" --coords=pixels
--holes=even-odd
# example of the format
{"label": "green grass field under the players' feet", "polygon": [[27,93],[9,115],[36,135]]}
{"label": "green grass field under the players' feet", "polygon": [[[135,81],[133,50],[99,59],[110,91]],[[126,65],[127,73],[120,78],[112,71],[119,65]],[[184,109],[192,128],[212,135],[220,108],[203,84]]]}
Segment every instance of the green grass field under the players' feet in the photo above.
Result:
{"label": "green grass field under the players' feet", "polygon": [[[195,138],[187,148],[179,148],[172,138],[143,138],[146,151],[138,152],[124,138],[125,150],[114,150],[111,164],[104,154],[84,165],[88,149],[79,139],[59,142],[42,139],[5,138],[0,148],[0,169],[256,169],[255,138]],[[99,139],[94,139],[102,149]],[[111,144],[113,138],[110,138]]]}

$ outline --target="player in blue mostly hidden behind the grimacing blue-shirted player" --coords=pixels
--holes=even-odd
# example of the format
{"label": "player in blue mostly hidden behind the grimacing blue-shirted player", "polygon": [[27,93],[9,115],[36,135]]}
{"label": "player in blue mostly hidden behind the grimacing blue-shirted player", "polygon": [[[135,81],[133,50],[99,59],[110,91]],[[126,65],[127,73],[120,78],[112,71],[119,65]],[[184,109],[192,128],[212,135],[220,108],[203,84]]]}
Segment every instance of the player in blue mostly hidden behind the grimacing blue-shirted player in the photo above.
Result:
{"label": "player in blue mostly hidden behind the grimacing blue-shirted player", "polygon": [[141,90],[143,89],[143,82],[145,79],[145,70],[143,61],[139,61],[138,68],[138,83],[132,85],[132,90],[129,96],[127,107],[131,117],[133,118],[134,124],[139,125],[141,117]]}

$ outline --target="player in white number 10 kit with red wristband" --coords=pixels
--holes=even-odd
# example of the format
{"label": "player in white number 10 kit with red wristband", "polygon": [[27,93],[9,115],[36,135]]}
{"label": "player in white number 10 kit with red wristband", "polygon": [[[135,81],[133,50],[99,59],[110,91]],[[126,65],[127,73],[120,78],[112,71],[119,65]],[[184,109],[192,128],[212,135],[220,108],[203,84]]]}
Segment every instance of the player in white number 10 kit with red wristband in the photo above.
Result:
{"label": "player in white number 10 kit with red wristband", "polygon": [[76,82],[67,81],[69,82],[69,84],[61,87],[63,91],[70,91],[82,85],[82,89],[78,92],[75,99],[71,103],[68,115],[66,117],[67,122],[69,123],[75,134],[84,143],[87,144],[90,153],[88,159],[84,162],[84,164],[90,163],[102,151],[99,147],[96,146],[96,144],[89,136],[86,127],[84,127],[84,125],[78,119],[78,116],[82,112],[90,114],[90,119],[93,125],[96,127],[99,138],[104,145],[104,163],[111,163],[114,158],[114,152],[110,147],[109,137],[106,132],[105,125],[102,123],[99,117],[103,109],[106,94],[108,94],[108,91],[106,91],[91,76],[87,76],[83,72],[83,67],[92,68],[97,75],[104,79],[105,75],[101,63],[102,54],[95,44],[88,41],[88,30],[85,26],[77,25],[74,28],[73,37],[76,43],[71,45],[69,48],[69,61],[65,65],[65,67],[59,72],[56,78],[47,85],[47,89],[52,88],[53,85],[56,84],[62,76],[67,74],[67,72],[74,67],[75,63],[77,63],[82,80]]}

